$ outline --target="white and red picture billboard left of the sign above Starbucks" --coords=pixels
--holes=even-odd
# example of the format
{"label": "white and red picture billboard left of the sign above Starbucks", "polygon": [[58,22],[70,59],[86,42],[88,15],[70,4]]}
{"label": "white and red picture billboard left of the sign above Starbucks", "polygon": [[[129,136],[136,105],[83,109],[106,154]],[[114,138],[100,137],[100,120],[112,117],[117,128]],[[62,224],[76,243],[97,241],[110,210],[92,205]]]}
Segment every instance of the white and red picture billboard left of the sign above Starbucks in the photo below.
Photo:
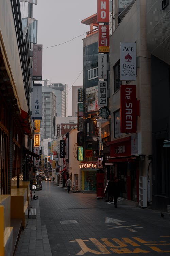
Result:
{"label": "white and red picture billboard left of the sign above Starbucks", "polygon": [[92,112],[99,110],[98,106],[98,86],[86,88],[85,111]]}

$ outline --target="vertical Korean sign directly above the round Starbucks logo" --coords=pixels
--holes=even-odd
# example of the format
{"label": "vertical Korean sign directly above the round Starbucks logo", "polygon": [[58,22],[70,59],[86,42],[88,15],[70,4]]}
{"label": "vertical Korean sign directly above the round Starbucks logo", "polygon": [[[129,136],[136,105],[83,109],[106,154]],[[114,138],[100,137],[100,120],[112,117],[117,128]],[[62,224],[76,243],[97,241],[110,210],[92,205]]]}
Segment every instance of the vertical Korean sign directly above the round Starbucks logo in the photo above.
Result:
{"label": "vertical Korean sign directly above the round Starbucks logo", "polygon": [[98,81],[98,106],[107,106],[107,82]]}

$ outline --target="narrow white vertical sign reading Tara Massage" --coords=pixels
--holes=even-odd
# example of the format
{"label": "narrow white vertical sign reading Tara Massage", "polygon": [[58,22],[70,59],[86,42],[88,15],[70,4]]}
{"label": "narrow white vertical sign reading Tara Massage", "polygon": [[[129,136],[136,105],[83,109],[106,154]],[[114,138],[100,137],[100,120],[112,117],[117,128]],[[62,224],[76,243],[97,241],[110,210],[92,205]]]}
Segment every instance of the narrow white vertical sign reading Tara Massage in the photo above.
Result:
{"label": "narrow white vertical sign reading Tara Massage", "polygon": [[98,54],[98,79],[107,79],[107,54]]}

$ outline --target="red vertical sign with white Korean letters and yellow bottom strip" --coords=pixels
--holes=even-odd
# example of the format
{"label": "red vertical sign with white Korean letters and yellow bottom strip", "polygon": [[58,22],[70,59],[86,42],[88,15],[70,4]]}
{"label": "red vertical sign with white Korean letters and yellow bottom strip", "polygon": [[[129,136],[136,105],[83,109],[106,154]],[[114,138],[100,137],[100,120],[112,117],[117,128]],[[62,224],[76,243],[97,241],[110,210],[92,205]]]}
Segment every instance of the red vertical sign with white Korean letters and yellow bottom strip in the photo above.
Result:
{"label": "red vertical sign with white Korean letters and yellow bottom strip", "polygon": [[98,25],[98,52],[109,52],[109,25]]}

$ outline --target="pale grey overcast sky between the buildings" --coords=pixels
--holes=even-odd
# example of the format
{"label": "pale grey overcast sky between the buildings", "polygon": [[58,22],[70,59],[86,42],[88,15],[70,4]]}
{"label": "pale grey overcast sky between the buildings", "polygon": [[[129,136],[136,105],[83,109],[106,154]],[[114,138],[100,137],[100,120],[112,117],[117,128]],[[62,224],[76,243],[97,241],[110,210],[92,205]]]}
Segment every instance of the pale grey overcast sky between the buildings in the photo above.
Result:
{"label": "pale grey overcast sky between the buildings", "polygon": [[[72,85],[83,85],[82,39],[90,26],[81,20],[96,12],[97,0],[38,0],[38,5],[33,5],[33,18],[38,20],[37,43],[43,44],[43,80],[68,84],[68,90]],[[54,45],[58,46],[50,47]],[[72,115],[72,88],[68,115]]]}

